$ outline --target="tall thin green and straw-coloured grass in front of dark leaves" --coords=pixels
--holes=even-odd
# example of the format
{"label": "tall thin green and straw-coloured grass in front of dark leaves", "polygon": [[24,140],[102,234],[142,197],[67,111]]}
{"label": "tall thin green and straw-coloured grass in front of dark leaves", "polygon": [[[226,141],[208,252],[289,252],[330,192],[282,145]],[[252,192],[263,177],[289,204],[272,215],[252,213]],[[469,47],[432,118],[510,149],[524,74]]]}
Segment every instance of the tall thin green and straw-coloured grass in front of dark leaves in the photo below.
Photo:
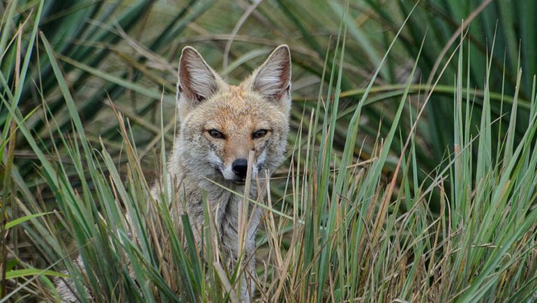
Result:
{"label": "tall thin green and straw-coloured grass in front of dark leaves", "polygon": [[[5,20],[13,19],[15,4],[8,6]],[[520,68],[525,61],[521,59],[515,68],[516,89],[494,92],[491,87],[497,85],[497,47],[494,43],[485,47],[485,60],[476,60],[475,54],[481,50],[474,46],[471,32],[461,31],[455,49],[448,52],[449,61],[438,68],[439,73],[454,71],[452,83],[440,86],[443,78],[435,76],[430,85],[415,84],[418,67],[424,73],[423,61],[430,56],[431,51],[425,50],[428,36],[420,41],[416,56],[411,58],[414,65],[404,84],[393,90],[378,86],[393,73],[391,58],[398,57],[393,50],[400,50],[397,44],[386,43],[384,57],[374,49],[365,51],[377,66],[365,88],[344,91],[346,87],[356,88],[346,70],[349,57],[356,58],[354,52],[349,52],[355,45],[349,42],[350,37],[363,45],[368,42],[354,23],[353,10],[331,4],[331,9],[343,17],[338,19],[337,38],[325,50],[301,25],[303,19],[296,14],[299,5],[287,4],[281,6],[282,10],[292,21],[290,24],[308,37],[310,49],[319,57],[315,64],[322,65],[322,71],[317,102],[303,107],[294,105],[295,134],[289,140],[289,161],[267,184],[269,195],[264,200],[250,201],[265,209],[264,228],[257,237],[255,299],[537,300],[536,82],[534,77],[530,87],[524,83],[527,76]],[[407,14],[409,22],[414,14],[423,13],[424,5],[418,4],[411,15]],[[22,47],[8,43],[9,31],[3,31],[0,40],[1,54],[20,58],[2,61],[1,65],[17,66],[9,77],[16,76],[19,84],[12,90],[9,77],[2,78],[6,88],[0,108],[6,112],[2,116],[6,124],[0,149],[0,153],[5,152],[2,206],[3,212],[17,209],[22,217],[20,221],[4,221],[2,226],[11,232],[14,226],[24,225],[24,235],[44,260],[42,269],[36,269],[18,258],[15,249],[9,259],[17,264],[10,263],[6,251],[2,256],[6,273],[3,281],[10,284],[3,286],[1,302],[29,297],[57,300],[50,276],[73,279],[73,291],[81,302],[236,302],[240,276],[245,272],[227,272],[220,263],[211,205],[206,204],[203,244],[197,247],[188,217],[176,214],[181,195],[161,195],[162,203],[150,198],[154,181],[146,177],[140,156],[146,151],[139,147],[139,128],[134,125],[146,123],[144,119],[129,110],[107,109],[114,114],[114,129],[121,139],[116,141],[121,157],[116,157],[117,147],[105,136],[95,138],[87,131],[81,114],[85,112],[73,96],[77,84],[84,82],[70,82],[68,77],[73,71],[63,68],[61,62],[74,66],[79,73],[102,77],[116,89],[159,98],[160,126],[147,126],[153,133],[164,134],[174,128],[174,117],[165,114],[168,96],[156,89],[148,93],[143,86],[124,80],[123,75],[84,64],[82,57],[73,59],[54,45],[46,32],[38,35],[43,6],[45,1],[36,10],[34,27],[21,27],[30,34],[26,54]],[[143,13],[144,7],[132,9]],[[304,8],[306,13],[316,9]],[[386,17],[383,11],[377,10],[379,16]],[[98,9],[95,12],[102,13]],[[270,20],[273,13],[256,17]],[[181,26],[174,28],[179,30]],[[17,35],[21,34],[15,33],[11,40],[16,41]],[[402,36],[394,39],[395,43],[399,39],[407,42],[404,31],[397,35]],[[35,50],[31,43],[36,37],[43,47],[36,51],[40,55],[36,64],[49,69],[46,81],[50,84],[36,82],[43,131],[35,129],[35,112],[27,113],[27,108],[17,106],[28,85],[24,83],[29,81],[26,75]],[[307,65],[301,56],[296,57],[299,66]],[[241,62],[241,58],[237,61]],[[451,70],[453,66],[455,70]],[[143,73],[143,68],[139,71]],[[474,87],[475,71],[483,71],[479,77],[481,89]],[[507,79],[508,73],[502,71],[501,79]],[[296,77],[301,75],[304,74]],[[50,87],[49,94],[54,92],[57,103],[50,102],[46,87]],[[508,83],[501,87],[508,87]],[[387,111],[384,118],[375,117],[376,110],[368,105],[380,100],[377,92],[383,89],[390,91],[390,98],[398,99],[393,111]],[[522,91],[526,91],[524,97],[520,96]],[[434,98],[440,94],[451,98],[451,111],[445,112],[444,108],[441,121],[445,124],[437,126],[453,134],[447,140],[452,144],[441,161],[424,166],[423,155],[428,151],[420,150],[421,140],[427,138],[423,128],[438,117],[430,110],[437,106]],[[356,95],[360,98],[351,99],[354,103],[343,104],[345,96]],[[65,112],[56,111],[59,108]],[[167,118],[172,122],[166,125]],[[371,121],[365,123],[364,119]],[[381,119],[384,123],[380,123]],[[372,123],[378,124],[376,130],[370,128]],[[73,132],[66,132],[66,126]],[[474,126],[478,126],[477,133]],[[373,137],[363,140],[362,133]],[[160,154],[153,155],[158,159],[153,165],[162,170],[166,135],[152,144],[155,142],[160,145]],[[39,175],[38,186],[23,177],[26,175],[21,172],[22,165],[15,165],[15,144],[27,146],[35,155],[32,165]],[[446,149],[442,140],[431,144],[433,149]],[[45,190],[36,193],[36,188]],[[43,202],[43,195],[52,197],[53,209],[47,209],[50,203]],[[3,249],[8,250],[5,241],[4,237]],[[73,263],[79,255],[84,271]],[[62,269],[68,270],[68,276],[60,273]],[[85,296],[86,291],[91,298]]]}

